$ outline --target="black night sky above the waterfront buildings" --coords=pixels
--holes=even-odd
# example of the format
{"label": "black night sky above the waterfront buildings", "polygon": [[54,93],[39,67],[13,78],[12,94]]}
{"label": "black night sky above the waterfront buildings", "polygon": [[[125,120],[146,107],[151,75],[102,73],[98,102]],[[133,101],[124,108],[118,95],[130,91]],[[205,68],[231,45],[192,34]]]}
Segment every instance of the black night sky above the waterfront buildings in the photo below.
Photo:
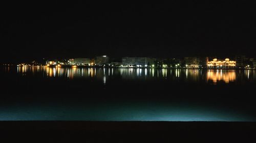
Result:
{"label": "black night sky above the waterfront buildings", "polygon": [[10,2],[1,60],[256,55],[256,5]]}

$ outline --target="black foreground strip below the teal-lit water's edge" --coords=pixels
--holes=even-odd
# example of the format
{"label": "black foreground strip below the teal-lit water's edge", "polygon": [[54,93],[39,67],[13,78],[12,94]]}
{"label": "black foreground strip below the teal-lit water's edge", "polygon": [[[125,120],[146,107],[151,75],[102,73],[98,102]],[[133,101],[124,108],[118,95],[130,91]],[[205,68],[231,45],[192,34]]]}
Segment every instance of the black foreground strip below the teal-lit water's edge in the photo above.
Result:
{"label": "black foreground strip below the teal-lit water's edge", "polygon": [[255,122],[2,121],[1,142],[254,142]]}

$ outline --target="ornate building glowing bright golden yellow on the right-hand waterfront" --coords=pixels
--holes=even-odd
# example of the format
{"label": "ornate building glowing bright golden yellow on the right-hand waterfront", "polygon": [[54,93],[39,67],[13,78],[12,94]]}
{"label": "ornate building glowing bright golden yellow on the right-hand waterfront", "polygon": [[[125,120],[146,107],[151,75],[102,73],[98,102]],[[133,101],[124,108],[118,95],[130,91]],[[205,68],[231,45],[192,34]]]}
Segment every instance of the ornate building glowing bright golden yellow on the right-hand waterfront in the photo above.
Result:
{"label": "ornate building glowing bright golden yellow on the right-hand waterfront", "polygon": [[232,69],[236,67],[236,61],[230,61],[228,58],[225,61],[214,59],[209,61],[207,66],[213,69]]}

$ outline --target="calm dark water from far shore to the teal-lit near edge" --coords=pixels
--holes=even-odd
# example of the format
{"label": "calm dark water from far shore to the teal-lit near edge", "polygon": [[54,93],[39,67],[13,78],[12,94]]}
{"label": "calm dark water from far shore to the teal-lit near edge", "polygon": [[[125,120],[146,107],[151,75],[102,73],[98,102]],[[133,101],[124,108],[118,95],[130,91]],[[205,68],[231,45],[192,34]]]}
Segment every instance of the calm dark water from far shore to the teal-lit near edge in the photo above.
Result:
{"label": "calm dark water from far shore to the teal-lit near edge", "polygon": [[0,120],[256,121],[256,71],[1,67]]}

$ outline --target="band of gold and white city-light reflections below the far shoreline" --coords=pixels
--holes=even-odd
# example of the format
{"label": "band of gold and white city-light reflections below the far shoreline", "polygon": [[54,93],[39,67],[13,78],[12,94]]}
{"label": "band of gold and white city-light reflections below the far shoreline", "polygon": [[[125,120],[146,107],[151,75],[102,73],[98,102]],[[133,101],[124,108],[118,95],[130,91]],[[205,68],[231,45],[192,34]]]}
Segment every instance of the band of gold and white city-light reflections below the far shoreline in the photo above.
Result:
{"label": "band of gold and white city-light reflections below the far shoreline", "polygon": [[[9,67],[6,69],[9,72]],[[238,79],[256,80],[253,70],[199,70],[199,69],[133,69],[133,68],[50,68],[50,67],[17,67],[17,73],[42,74],[44,77],[101,78],[106,84],[108,77],[121,76],[123,79],[155,79],[164,78],[183,81],[205,81],[217,84],[219,82],[235,82]]]}

